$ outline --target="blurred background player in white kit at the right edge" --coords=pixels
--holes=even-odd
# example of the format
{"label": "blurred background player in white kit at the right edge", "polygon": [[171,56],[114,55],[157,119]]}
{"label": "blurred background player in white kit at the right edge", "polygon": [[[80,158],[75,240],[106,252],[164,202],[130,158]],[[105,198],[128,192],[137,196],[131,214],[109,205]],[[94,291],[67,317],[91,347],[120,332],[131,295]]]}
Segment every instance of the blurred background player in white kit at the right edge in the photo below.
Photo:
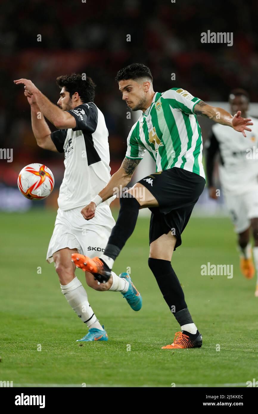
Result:
{"label": "blurred background player in white kit at the right edge", "polygon": [[[249,96],[243,89],[234,89],[229,94],[231,113],[241,111],[247,117]],[[219,152],[219,179],[223,194],[238,234],[241,272],[247,279],[258,274],[258,119],[252,117],[252,131],[246,137],[232,128],[215,124],[207,142],[207,181],[209,194],[217,199],[213,182],[214,159]],[[250,242],[253,235],[253,260]],[[255,296],[258,296],[258,280]]]}

